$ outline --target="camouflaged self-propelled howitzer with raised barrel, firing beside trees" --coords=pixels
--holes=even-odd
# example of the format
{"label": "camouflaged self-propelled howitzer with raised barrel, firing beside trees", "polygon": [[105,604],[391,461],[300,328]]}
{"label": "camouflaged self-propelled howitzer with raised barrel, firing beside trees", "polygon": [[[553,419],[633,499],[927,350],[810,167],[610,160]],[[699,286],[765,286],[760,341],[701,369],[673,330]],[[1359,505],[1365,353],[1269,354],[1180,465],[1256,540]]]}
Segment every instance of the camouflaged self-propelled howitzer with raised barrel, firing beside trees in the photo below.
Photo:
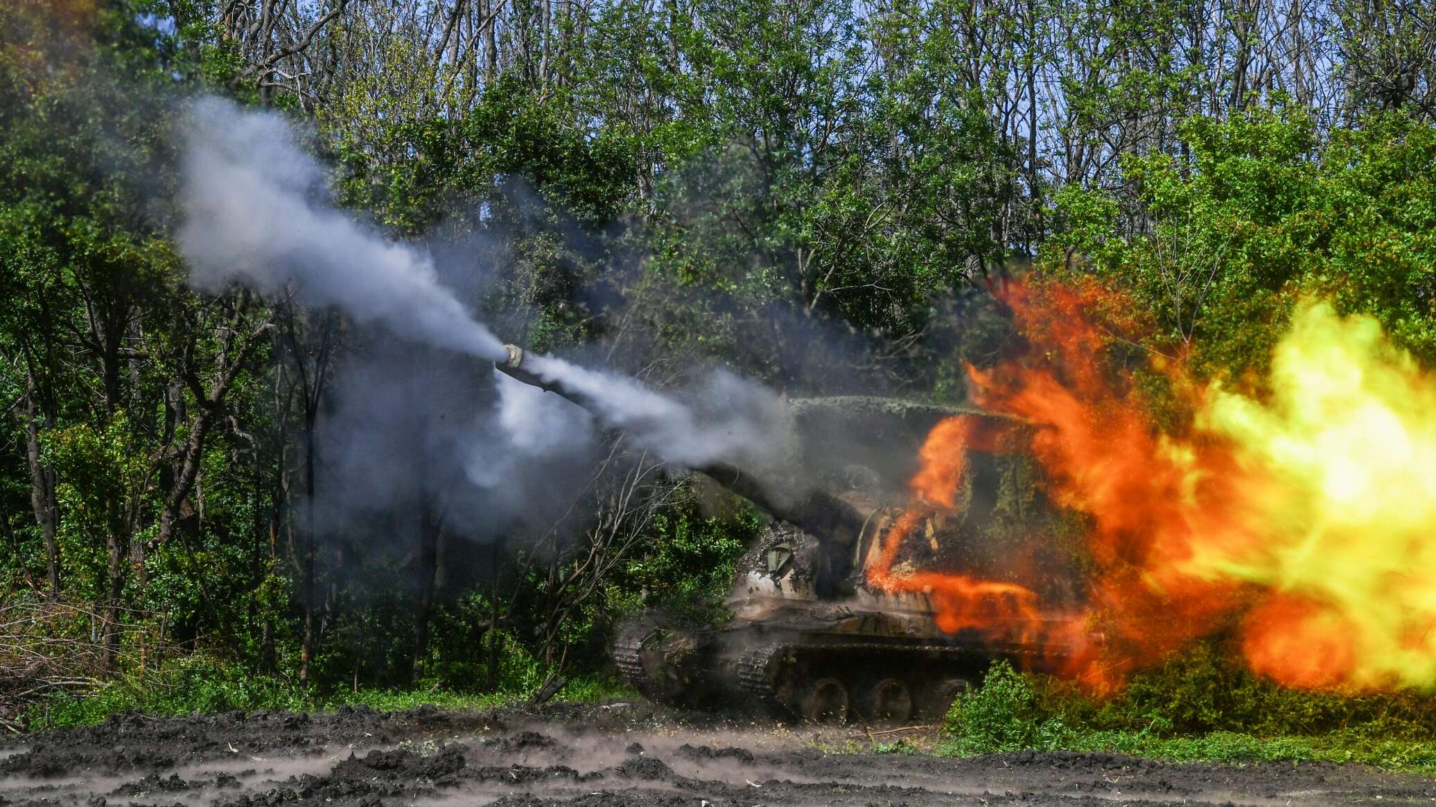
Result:
{"label": "camouflaged self-propelled howitzer with raised barrel, firing beside trees", "polygon": [[[507,347],[508,359],[495,365],[498,370],[600,409],[561,381],[538,378],[526,369],[520,347]],[[890,593],[867,580],[867,567],[906,503],[905,482],[928,431],[955,415],[992,415],[869,396],[788,405],[798,434],[793,475],[814,482],[798,494],[780,494],[728,462],[691,468],[773,521],[740,560],[727,600],[731,619],[692,626],[645,613],[620,632],[613,658],[640,692],[696,705],[751,704],[817,721],[900,722],[945,714],[955,694],[994,658],[1040,668],[1061,655],[1050,636],[1063,632],[1041,625],[1034,630],[1030,617],[1010,630],[1002,625],[943,630],[929,593]],[[1022,462],[984,457],[969,465],[961,516],[925,520],[899,563],[1030,577],[1032,563],[1043,559],[1014,557],[994,530],[999,511],[1008,510],[1001,501],[1002,480]],[[1041,520],[1043,513],[1032,516]],[[1004,534],[1014,527],[1021,528],[1002,524]],[[1055,599],[1071,597],[1060,582],[1051,587],[1047,593]]]}

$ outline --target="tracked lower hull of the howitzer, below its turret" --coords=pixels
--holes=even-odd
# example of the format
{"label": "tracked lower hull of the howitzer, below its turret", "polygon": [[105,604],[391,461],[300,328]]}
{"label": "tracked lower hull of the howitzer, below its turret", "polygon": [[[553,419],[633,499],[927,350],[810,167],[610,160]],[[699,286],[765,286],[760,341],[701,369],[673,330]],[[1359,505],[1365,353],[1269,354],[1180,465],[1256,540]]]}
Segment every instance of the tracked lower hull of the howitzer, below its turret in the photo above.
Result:
{"label": "tracked lower hull of the howitzer, below its turret", "polygon": [[[785,540],[785,538],[777,538]],[[922,593],[864,586],[846,597],[813,594],[803,580],[745,573],[732,617],[691,629],[645,616],[613,648],[645,696],[692,706],[751,706],[820,722],[941,719],[992,659],[1053,669],[1078,652],[1066,613],[992,615],[981,628],[945,630]]]}

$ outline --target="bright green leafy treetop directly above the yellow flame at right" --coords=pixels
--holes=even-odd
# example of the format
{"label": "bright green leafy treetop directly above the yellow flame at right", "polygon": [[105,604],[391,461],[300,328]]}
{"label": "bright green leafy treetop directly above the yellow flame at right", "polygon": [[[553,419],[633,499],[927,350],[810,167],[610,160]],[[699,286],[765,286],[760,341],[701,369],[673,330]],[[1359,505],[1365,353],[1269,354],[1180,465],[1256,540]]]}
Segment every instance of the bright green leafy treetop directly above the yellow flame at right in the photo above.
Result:
{"label": "bright green leafy treetop directly above the yellow flame at right", "polygon": [[[1261,370],[1301,294],[1374,314],[1436,359],[1426,286],[1436,241],[1436,131],[1403,113],[1318,138],[1305,109],[1192,118],[1189,155],[1123,162],[1130,192],[1067,187],[1055,264],[1093,271],[1159,322],[1159,345],[1190,347],[1205,373]],[[1134,215],[1146,218],[1129,230]]]}

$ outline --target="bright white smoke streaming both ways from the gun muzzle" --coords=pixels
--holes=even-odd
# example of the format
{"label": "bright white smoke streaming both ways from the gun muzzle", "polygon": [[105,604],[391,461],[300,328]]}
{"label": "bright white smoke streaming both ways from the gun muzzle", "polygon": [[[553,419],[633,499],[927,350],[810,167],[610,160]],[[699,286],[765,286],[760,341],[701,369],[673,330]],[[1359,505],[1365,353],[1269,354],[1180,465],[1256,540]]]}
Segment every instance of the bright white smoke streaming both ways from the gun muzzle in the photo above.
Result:
{"label": "bright white smoke streaming both ways from the gun muzzle", "polygon": [[[281,118],[201,99],[188,134],[180,247],[197,289],[244,283],[276,293],[293,284],[300,302],[336,306],[356,323],[382,325],[416,347],[507,358],[503,343],[442,283],[428,250],[385,238],[326,201],[323,168]],[[457,267],[445,269],[452,276]],[[633,379],[561,359],[533,356],[524,366],[576,391],[599,421],[626,431],[666,462],[774,467],[787,448],[787,406],[732,373],[711,373],[681,402]],[[368,378],[376,399],[385,399],[373,386],[383,383],[383,375]],[[507,485],[523,475],[516,462],[546,461],[567,444],[582,444],[592,431],[587,415],[563,402],[536,405],[537,391],[507,382],[500,382],[497,408],[484,415],[487,425],[478,424],[505,438],[452,447],[449,454],[481,488]],[[372,421],[382,418],[368,418],[365,428],[382,428]]]}

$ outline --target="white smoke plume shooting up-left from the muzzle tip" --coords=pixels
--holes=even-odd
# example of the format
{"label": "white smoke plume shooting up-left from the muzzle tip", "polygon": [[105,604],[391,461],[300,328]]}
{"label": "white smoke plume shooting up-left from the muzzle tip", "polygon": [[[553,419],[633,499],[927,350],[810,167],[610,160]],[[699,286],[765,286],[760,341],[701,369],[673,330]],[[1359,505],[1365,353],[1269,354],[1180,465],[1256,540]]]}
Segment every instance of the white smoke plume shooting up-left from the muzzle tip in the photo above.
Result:
{"label": "white smoke plume shooting up-left from the muzzle tip", "polygon": [[323,171],[276,115],[195,103],[182,167],[180,248],[202,290],[290,281],[309,304],[488,359],[503,343],[439,284],[424,250],[383,238],[323,201]]}

